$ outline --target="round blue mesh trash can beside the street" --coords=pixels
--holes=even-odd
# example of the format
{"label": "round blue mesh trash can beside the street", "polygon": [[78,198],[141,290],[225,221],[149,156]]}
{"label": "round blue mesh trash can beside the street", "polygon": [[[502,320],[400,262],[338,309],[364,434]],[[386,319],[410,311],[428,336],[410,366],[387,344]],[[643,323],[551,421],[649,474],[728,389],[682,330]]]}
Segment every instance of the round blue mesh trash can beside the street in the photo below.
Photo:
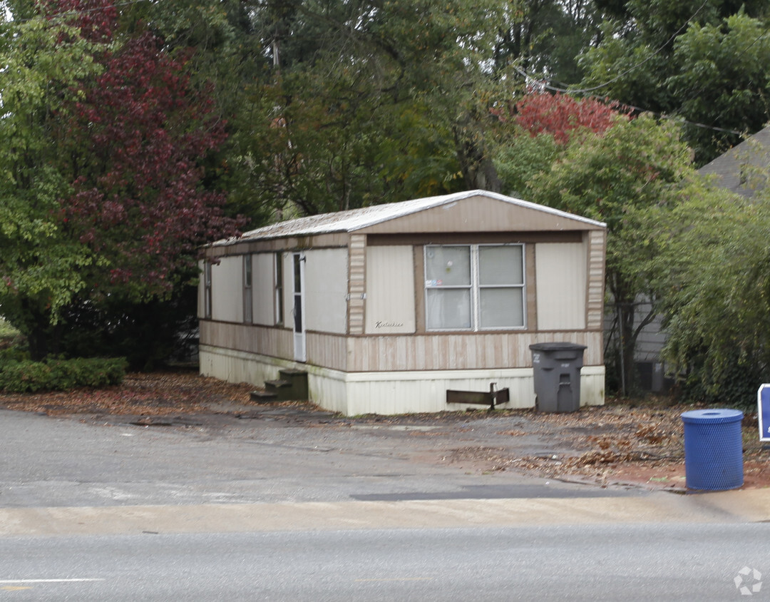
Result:
{"label": "round blue mesh trash can beside the street", "polygon": [[685,477],[688,489],[718,491],[743,485],[743,412],[691,410],[685,425]]}

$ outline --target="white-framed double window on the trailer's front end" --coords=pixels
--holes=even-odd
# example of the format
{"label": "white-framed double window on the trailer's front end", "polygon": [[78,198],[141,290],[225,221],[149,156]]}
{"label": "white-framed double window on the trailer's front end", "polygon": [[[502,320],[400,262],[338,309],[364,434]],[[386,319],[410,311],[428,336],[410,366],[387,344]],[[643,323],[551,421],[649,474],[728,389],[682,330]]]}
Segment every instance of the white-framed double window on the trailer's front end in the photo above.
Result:
{"label": "white-framed double window on the trailer's front end", "polygon": [[524,245],[425,247],[427,330],[524,328]]}

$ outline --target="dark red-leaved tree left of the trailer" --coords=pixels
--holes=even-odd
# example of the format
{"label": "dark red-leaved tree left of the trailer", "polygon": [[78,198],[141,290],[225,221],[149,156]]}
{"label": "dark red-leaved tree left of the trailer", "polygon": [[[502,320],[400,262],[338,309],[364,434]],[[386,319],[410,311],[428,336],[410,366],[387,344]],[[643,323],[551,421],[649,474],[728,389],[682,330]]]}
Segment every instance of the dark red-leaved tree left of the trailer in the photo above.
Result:
{"label": "dark red-leaved tree left of the trailer", "polygon": [[[92,42],[116,41],[110,2],[58,8]],[[185,58],[150,32],[117,42],[102,46],[101,74],[81,82],[62,119],[74,190],[62,219],[101,258],[95,288],[139,301],[168,294],[196,249],[236,234],[237,224],[224,217],[225,195],[203,186],[203,160],[225,139],[224,123],[193,89]]]}

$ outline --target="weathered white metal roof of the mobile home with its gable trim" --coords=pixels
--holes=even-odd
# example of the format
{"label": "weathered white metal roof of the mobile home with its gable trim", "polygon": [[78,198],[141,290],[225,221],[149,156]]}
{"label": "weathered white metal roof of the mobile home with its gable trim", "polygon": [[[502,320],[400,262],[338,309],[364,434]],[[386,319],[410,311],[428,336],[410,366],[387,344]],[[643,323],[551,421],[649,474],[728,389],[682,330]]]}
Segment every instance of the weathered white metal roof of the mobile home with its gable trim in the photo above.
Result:
{"label": "weathered white metal roof of the mobile home with its gable trim", "polygon": [[398,203],[384,203],[382,205],[372,205],[371,207],[361,207],[360,209],[350,209],[346,211],[337,211],[332,214],[311,215],[308,217],[297,217],[293,220],[286,220],[276,224],[270,224],[244,232],[240,237],[217,240],[211,243],[210,247],[227,246],[236,244],[242,240],[249,239],[271,239],[291,236],[310,236],[313,234],[332,234],[334,232],[353,232],[364,227],[370,227],[381,224],[383,221],[393,220],[397,217],[403,217],[417,211],[440,207],[441,205],[454,203],[458,200],[464,200],[470,197],[489,197],[527,207],[544,213],[565,217],[570,220],[581,221],[584,224],[592,226],[606,227],[604,222],[591,220],[588,217],[581,217],[575,214],[568,214],[566,211],[545,207],[537,203],[531,203],[527,200],[521,200],[514,197],[507,197],[504,194],[490,192],[488,190],[466,190],[461,193],[444,194],[438,197],[425,197],[422,199],[403,200]]}

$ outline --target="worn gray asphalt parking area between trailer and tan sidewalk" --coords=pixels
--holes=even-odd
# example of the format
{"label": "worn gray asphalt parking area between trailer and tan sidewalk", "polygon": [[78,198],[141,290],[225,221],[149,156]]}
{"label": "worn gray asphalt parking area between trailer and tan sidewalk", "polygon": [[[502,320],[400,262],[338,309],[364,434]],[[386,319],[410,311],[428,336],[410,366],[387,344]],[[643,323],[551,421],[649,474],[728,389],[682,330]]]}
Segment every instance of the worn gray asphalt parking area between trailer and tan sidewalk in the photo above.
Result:
{"label": "worn gray asphalt parking area between trailer and tan sidewalk", "polygon": [[170,426],[130,420],[0,410],[0,508],[628,495],[484,473],[472,460],[447,457],[514,439],[522,454],[558,451],[538,437],[496,435],[511,428],[503,422],[475,432],[472,420],[436,430],[285,415],[214,415]]}

